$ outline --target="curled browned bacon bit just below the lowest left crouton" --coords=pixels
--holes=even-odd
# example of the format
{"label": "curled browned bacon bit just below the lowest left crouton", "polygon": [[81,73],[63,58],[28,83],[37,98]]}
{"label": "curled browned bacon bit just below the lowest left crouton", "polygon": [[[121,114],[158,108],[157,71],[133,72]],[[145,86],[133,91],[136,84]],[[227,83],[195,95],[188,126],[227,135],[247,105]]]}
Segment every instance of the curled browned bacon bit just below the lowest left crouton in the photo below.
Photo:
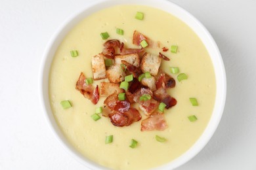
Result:
{"label": "curled browned bacon bit just below the lowest left crouton", "polygon": [[121,112],[121,113],[129,110],[131,105],[131,103],[127,100],[119,101],[117,93],[113,93],[112,95],[109,95],[105,99],[104,104],[106,104],[110,110]]}

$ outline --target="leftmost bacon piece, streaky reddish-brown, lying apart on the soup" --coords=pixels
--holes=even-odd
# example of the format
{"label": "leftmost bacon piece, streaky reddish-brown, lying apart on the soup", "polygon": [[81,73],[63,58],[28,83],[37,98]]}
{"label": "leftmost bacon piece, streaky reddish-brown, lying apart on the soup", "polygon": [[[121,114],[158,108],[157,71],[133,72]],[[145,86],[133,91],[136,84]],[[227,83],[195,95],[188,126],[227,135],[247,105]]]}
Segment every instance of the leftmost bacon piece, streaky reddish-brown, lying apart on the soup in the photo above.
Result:
{"label": "leftmost bacon piece, streaky reddish-brown, lying apart on the soup", "polygon": [[86,84],[85,75],[83,75],[83,73],[80,73],[80,76],[75,85],[75,89],[79,90],[79,92],[82,93],[85,98],[91,100],[93,104],[96,105],[96,103],[98,103],[98,99],[100,99],[98,85],[94,89],[93,85]]}

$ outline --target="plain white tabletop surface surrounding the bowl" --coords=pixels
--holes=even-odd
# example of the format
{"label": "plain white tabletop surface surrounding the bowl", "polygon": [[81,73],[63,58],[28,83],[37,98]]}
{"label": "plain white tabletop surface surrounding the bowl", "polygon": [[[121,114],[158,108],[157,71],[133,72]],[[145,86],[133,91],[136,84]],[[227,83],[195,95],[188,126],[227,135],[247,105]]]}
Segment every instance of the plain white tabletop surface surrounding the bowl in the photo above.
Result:
{"label": "plain white tabletop surface surrounding the bowl", "polygon": [[[39,103],[39,65],[59,25],[91,0],[0,1],[0,169],[86,169],[54,137]],[[185,169],[256,169],[256,1],[173,0],[217,42],[227,76],[221,123]]]}

